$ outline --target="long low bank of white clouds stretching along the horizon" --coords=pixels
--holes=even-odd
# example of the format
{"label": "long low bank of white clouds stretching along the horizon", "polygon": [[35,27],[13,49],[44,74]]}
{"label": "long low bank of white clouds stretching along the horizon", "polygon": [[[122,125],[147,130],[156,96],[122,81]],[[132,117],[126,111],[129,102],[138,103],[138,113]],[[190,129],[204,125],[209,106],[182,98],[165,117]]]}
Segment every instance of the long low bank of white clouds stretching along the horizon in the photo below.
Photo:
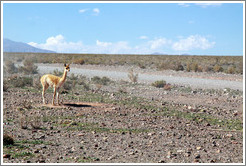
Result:
{"label": "long low bank of white clouds stretching along the horizon", "polygon": [[44,43],[29,42],[28,44],[58,53],[151,54],[153,52],[205,50],[212,48],[215,42],[200,35],[191,35],[187,38],[179,36],[176,41],[159,37],[144,40],[141,44],[135,45],[129,45],[127,41],[105,42],[100,40],[96,40],[95,44],[86,45],[82,41],[66,41],[65,37],[60,34],[47,38]]}

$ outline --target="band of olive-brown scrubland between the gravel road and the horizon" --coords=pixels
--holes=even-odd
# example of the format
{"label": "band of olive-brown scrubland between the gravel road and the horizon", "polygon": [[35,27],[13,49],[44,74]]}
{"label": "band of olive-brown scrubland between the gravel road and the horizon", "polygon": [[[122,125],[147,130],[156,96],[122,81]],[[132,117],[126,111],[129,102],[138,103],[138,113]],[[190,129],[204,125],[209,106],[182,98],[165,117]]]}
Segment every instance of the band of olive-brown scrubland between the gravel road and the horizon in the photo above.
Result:
{"label": "band of olive-brown scrubland between the gravel road and the horizon", "polygon": [[142,69],[243,74],[243,56],[4,53],[4,60],[9,59],[17,62],[29,59],[34,63],[130,65]]}

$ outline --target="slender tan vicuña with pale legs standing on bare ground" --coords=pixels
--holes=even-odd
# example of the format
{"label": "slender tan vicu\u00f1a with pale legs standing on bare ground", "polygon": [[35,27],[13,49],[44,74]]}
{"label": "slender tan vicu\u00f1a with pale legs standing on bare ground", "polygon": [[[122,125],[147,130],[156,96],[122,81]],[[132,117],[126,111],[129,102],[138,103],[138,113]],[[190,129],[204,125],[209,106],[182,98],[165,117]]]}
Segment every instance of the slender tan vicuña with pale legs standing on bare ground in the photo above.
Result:
{"label": "slender tan vicu\u00f1a with pale legs standing on bare ground", "polygon": [[43,104],[46,104],[44,93],[48,89],[48,87],[51,86],[54,88],[52,105],[55,105],[55,96],[57,98],[57,104],[60,105],[59,104],[59,89],[63,85],[63,83],[65,82],[68,71],[70,71],[69,64],[68,65],[64,64],[64,73],[63,73],[62,77],[57,77],[57,76],[52,75],[52,74],[46,74],[46,75],[43,75],[41,77],[40,81],[41,81],[41,84],[43,86],[43,92],[42,92]]}

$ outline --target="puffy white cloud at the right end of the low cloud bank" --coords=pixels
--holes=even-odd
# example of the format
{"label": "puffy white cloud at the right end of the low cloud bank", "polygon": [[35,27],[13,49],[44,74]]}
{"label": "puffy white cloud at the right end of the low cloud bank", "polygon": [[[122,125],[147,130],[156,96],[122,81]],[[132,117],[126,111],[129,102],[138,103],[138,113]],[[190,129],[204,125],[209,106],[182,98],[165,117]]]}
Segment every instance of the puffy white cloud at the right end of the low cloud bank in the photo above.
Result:
{"label": "puffy white cloud at the right end of the low cloud bank", "polygon": [[173,43],[172,48],[176,51],[206,50],[212,48],[214,45],[215,42],[210,42],[203,36],[191,35],[186,39],[180,39],[178,42]]}

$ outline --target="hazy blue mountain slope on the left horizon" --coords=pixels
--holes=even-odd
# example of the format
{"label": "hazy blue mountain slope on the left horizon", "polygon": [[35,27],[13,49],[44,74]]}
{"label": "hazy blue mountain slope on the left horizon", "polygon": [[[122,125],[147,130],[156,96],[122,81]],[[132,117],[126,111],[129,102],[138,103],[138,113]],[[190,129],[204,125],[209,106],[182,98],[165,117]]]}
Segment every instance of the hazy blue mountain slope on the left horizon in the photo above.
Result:
{"label": "hazy blue mountain slope on the left horizon", "polygon": [[55,53],[54,51],[39,49],[29,44],[22,42],[15,42],[9,39],[3,39],[3,52],[41,52],[41,53]]}

